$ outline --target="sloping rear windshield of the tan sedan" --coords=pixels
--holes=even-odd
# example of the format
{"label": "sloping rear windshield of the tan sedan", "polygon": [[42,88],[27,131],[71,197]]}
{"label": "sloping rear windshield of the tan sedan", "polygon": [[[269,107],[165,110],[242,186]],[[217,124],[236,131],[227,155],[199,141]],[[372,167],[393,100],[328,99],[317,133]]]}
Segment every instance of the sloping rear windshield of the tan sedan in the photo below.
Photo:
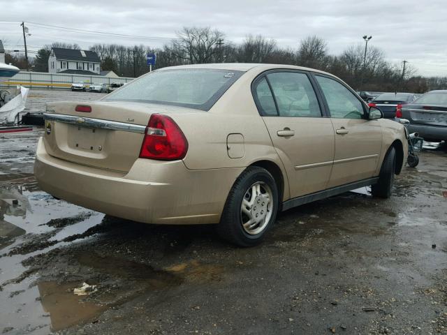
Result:
{"label": "sloping rear windshield of the tan sedan", "polygon": [[161,103],[210,110],[242,74],[242,71],[205,68],[157,70],[126,84],[103,100]]}

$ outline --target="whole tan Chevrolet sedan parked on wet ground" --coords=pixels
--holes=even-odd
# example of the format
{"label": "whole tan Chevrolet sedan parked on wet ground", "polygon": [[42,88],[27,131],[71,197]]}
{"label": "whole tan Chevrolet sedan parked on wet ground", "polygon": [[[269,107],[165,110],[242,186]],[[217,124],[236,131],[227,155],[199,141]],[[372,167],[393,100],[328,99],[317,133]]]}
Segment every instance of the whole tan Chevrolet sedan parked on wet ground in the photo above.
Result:
{"label": "whole tan Chevrolet sedan parked on wet ground", "polygon": [[215,223],[253,246],[279,211],[361,186],[390,197],[407,138],[382,117],[319,70],[162,68],[101,101],[48,103],[35,174],[44,191],[89,209]]}

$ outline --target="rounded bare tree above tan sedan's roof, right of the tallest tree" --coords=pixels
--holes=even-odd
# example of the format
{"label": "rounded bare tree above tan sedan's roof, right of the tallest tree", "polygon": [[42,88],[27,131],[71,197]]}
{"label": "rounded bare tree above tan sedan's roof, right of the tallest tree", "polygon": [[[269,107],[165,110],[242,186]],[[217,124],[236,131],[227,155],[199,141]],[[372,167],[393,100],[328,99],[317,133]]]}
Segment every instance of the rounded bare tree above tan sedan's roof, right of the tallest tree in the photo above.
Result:
{"label": "rounded bare tree above tan sedan's roof, right of the tallest tree", "polygon": [[242,63],[265,63],[276,47],[276,40],[249,35],[237,48],[236,59]]}

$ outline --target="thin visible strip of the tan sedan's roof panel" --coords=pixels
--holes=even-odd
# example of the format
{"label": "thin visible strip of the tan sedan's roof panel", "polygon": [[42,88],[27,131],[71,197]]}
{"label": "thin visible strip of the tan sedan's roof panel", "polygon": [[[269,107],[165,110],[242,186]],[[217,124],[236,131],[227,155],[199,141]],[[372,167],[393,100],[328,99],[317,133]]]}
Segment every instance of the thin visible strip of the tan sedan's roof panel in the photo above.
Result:
{"label": "thin visible strip of the tan sedan's roof panel", "polygon": [[260,63],[212,63],[212,64],[191,64],[191,65],[179,65],[179,66],[169,66],[166,68],[160,68],[159,70],[172,70],[172,69],[186,69],[186,68],[214,68],[217,70],[233,70],[233,71],[243,71],[247,72],[248,70],[255,69],[259,70],[259,72],[263,72],[265,70],[274,70],[275,68],[287,68],[293,70],[305,70],[312,71],[316,73],[322,73],[325,75],[331,75],[330,73],[316,70],[314,68],[305,68],[303,66],[294,66],[294,65],[284,65],[284,64],[260,64]]}

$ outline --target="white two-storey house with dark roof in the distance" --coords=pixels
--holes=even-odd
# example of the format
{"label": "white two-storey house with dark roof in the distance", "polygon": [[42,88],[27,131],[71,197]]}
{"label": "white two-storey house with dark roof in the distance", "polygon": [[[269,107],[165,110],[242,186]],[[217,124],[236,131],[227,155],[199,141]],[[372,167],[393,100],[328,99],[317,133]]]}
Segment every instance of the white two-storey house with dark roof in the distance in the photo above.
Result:
{"label": "white two-storey house with dark roof in the distance", "polygon": [[71,75],[99,75],[101,59],[94,51],[52,47],[48,58],[49,73]]}

